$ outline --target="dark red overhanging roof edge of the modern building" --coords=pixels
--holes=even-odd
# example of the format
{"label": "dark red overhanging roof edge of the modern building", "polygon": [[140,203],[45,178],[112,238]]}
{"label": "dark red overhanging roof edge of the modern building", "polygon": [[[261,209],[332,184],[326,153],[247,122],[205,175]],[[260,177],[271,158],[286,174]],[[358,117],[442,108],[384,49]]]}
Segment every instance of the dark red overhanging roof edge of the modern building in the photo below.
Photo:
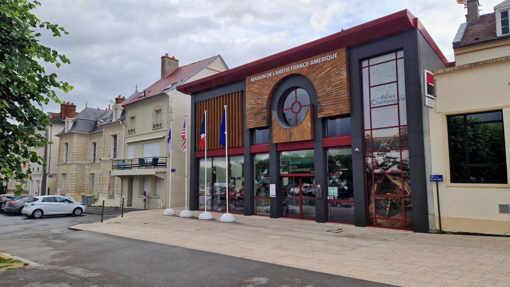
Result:
{"label": "dark red overhanging roof edge of the modern building", "polygon": [[418,18],[409,10],[405,9],[239,67],[180,85],[177,87],[177,91],[191,95],[199,91],[214,88],[218,85],[238,81],[247,76],[267,71],[274,67],[302,60],[311,55],[325,53],[338,49],[339,47],[360,45],[413,28],[417,28],[420,31],[443,63],[449,67],[443,52],[441,52],[436,42],[432,40]]}

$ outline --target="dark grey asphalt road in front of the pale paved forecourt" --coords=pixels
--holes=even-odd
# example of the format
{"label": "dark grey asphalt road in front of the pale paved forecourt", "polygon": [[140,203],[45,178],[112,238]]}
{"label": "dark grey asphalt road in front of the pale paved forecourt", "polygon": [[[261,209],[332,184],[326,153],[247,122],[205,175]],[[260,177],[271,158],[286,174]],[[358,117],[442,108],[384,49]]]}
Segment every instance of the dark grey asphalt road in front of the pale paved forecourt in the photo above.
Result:
{"label": "dark grey asphalt road in front of the pale paved forecourt", "polygon": [[[0,272],[0,286],[389,286],[205,251],[68,231],[100,215],[0,215],[0,250],[42,266]],[[171,235],[169,235],[171,236]]]}

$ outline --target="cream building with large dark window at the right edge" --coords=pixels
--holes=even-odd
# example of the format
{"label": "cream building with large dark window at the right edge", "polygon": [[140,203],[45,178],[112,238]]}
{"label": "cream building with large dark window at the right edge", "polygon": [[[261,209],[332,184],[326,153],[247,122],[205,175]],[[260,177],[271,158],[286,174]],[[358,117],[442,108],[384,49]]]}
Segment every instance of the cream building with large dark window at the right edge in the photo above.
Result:
{"label": "cream building with large dark window at the right edge", "polygon": [[466,3],[467,21],[453,40],[455,66],[433,71],[436,107],[428,110],[431,171],[444,175],[436,229],[510,233],[510,1],[479,15]]}

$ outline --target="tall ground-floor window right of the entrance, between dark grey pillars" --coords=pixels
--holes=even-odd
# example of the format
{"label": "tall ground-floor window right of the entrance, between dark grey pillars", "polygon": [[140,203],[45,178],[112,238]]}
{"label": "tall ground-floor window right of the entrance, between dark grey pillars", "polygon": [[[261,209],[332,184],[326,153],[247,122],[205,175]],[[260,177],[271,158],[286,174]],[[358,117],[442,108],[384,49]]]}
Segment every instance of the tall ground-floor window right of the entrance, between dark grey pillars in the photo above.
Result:
{"label": "tall ground-floor window right of the entrance, between dark grey pillars", "polygon": [[354,224],[352,149],[331,148],[326,156],[328,220]]}

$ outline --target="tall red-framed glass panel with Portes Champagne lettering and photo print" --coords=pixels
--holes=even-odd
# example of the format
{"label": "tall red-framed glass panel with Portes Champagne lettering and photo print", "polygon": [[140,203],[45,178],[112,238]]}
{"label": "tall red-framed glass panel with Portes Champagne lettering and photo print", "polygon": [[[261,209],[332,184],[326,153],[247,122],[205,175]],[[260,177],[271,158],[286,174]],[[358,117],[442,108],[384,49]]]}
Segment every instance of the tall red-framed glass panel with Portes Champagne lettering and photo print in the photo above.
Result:
{"label": "tall red-framed glass panel with Portes Champagne lettering and photo print", "polygon": [[404,53],[362,63],[369,225],[413,229]]}

